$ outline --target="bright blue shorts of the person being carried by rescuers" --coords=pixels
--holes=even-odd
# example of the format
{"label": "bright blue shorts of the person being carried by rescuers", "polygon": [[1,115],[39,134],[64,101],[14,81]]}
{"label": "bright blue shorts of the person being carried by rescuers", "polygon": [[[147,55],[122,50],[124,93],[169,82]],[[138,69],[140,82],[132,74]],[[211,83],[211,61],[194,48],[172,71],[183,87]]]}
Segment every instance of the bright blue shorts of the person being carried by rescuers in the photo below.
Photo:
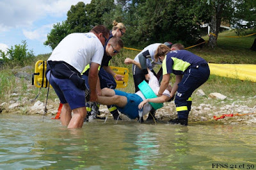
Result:
{"label": "bright blue shorts of the person being carried by rescuers", "polygon": [[124,91],[120,91],[117,89],[114,89],[115,94],[119,96],[127,97],[127,104],[125,107],[118,107],[118,111],[124,113],[126,116],[128,116],[130,119],[134,120],[135,118],[139,117],[139,104],[143,101],[142,98],[139,95],[131,94],[131,93],[125,93]]}

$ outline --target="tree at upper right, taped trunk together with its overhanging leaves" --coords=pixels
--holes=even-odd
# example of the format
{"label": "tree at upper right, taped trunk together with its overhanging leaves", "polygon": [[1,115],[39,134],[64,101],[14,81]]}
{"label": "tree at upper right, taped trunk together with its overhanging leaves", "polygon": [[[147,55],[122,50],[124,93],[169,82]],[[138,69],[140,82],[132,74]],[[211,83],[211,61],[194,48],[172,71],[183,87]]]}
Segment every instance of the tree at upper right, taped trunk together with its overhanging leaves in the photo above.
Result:
{"label": "tree at upper right, taped trunk together with its overhanging leaves", "polygon": [[216,47],[218,34],[220,33],[221,21],[226,21],[236,26],[241,32],[243,26],[241,20],[246,20],[250,27],[255,26],[255,7],[254,0],[202,0],[201,3],[205,3],[209,6],[211,14],[211,35],[209,38],[208,46]]}

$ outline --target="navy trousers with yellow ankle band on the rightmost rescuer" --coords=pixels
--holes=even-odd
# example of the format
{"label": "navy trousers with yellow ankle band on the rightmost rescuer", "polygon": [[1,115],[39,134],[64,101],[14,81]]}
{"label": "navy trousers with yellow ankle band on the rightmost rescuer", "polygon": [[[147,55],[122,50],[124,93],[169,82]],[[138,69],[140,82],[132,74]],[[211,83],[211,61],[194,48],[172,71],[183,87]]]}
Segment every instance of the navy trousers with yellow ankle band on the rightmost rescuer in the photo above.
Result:
{"label": "navy trousers with yellow ankle band on the rightmost rescuer", "polygon": [[188,119],[191,109],[191,101],[188,101],[193,91],[207,81],[210,75],[209,66],[199,66],[198,68],[188,68],[178,84],[175,95],[176,111],[179,119]]}

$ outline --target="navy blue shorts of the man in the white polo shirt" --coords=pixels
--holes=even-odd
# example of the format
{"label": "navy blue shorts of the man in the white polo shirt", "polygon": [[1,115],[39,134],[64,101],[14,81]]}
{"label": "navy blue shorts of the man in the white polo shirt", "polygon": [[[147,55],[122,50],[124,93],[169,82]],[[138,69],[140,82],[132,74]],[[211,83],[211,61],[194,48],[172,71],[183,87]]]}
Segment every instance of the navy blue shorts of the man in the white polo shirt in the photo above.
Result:
{"label": "navy blue shorts of the man in the white polo shirt", "polygon": [[[48,80],[50,73],[51,71],[46,75]],[[77,88],[70,79],[58,79],[51,74],[50,84],[60,98],[61,104],[68,103],[72,110],[78,107],[85,107],[84,90]]]}

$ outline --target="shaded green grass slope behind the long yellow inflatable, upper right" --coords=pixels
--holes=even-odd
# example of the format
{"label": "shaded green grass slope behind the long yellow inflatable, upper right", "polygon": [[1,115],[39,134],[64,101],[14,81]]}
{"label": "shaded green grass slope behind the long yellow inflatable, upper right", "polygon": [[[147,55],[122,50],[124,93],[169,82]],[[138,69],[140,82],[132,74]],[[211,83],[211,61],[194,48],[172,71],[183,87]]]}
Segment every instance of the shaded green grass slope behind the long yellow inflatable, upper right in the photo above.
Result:
{"label": "shaded green grass slope behind the long yellow inflatable, upper right", "polygon": [[[247,31],[246,35],[252,33],[252,31]],[[225,36],[236,36],[236,34],[234,31],[220,33],[217,40],[218,46],[215,49],[207,47],[198,49],[194,47],[188,50],[201,56],[209,63],[256,64],[256,52],[250,50],[256,35],[241,38],[228,38]],[[209,40],[209,36],[202,38],[206,41]]]}

